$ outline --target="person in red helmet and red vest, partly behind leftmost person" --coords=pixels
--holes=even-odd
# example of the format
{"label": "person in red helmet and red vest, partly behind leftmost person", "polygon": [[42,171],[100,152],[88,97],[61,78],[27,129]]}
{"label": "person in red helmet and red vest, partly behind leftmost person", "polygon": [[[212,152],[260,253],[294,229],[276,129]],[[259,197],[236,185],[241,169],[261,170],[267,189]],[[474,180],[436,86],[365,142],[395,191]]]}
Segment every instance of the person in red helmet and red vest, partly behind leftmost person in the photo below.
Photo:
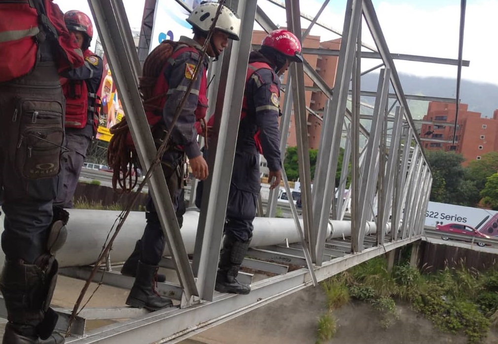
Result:
{"label": "person in red helmet and red vest, partly behind leftmost person", "polygon": [[103,62],[90,49],[92,21],[83,12],[71,10],[64,14],[68,30],[76,36],[83,51],[85,64],[61,74],[66,97],[66,147],[62,158],[62,188],[54,204],[73,208],[73,195],[78,185],[88,146],[97,134],[97,90],[102,79]]}

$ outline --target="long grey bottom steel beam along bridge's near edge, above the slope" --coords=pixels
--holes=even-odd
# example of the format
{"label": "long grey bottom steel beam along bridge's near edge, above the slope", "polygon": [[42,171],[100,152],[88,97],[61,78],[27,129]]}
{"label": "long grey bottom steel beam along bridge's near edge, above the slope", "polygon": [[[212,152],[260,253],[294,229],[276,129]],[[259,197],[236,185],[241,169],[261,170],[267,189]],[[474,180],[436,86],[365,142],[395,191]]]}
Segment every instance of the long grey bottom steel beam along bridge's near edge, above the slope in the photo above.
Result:
{"label": "long grey bottom steel beam along bridge's near edge, above the slope", "polygon": [[[359,254],[347,254],[324,262],[321,267],[315,268],[317,279],[323,281],[350,267],[419,239],[420,237],[412,237],[386,243],[384,246],[365,249]],[[248,295],[217,294],[213,302],[185,309],[153,312],[135,318],[131,322],[116,323],[91,331],[84,338],[67,338],[66,343],[178,343],[311,284],[309,272],[304,269],[295,270],[286,275],[254,283]]]}

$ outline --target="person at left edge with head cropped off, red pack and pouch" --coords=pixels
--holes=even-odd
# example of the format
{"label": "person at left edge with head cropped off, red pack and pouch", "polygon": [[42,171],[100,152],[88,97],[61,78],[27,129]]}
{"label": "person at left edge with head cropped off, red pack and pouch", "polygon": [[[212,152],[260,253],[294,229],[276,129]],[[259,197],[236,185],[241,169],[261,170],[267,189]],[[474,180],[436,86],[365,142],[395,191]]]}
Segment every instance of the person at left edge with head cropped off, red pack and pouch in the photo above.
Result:
{"label": "person at left edge with head cropped off, red pack and pouch", "polygon": [[64,144],[58,72],[83,65],[83,56],[51,0],[0,1],[0,37],[2,343],[60,344],[49,307],[68,220],[52,209]]}

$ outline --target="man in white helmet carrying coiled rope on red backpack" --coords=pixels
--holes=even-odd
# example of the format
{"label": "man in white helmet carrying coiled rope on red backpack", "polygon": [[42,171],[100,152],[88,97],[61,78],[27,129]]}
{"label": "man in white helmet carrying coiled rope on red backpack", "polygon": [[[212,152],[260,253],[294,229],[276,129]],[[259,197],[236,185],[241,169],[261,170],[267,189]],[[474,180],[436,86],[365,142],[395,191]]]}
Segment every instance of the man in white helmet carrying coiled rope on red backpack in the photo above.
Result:
{"label": "man in white helmet carrying coiled rope on red backpack", "polygon": [[[161,166],[180,227],[185,212],[184,207],[182,208],[184,201],[180,197],[183,188],[185,155],[189,159],[192,173],[196,178],[204,180],[208,177],[208,165],[197,144],[195,123],[204,119],[207,110],[206,69],[208,58],[203,57],[201,52],[212,23],[211,19],[215,17],[218,6],[219,4],[216,2],[201,3],[197,6],[187,18],[187,22],[192,25],[194,38],[182,36],[179,42],[161,43],[164,46],[156,47],[145,60],[144,75],[140,80],[144,109],[149,124],[152,121],[156,122],[152,128],[152,136],[159,139],[164,136],[163,130],[171,131],[169,146],[162,157]],[[223,6],[208,44],[207,55],[218,57],[228,45],[228,39],[239,39],[239,30],[240,18],[228,7]],[[157,52],[160,52],[162,48],[167,48],[165,44],[173,46],[174,51],[167,62],[160,66],[162,68],[161,74],[154,81],[153,91],[149,94],[144,86],[148,81],[149,67],[154,65],[152,56],[160,58],[161,54]],[[193,80],[194,71],[200,59],[204,59],[200,65],[201,70],[197,79]],[[192,80],[193,87],[187,95],[185,106],[176,123],[172,125],[176,108],[184,98]],[[159,135],[156,135],[157,131],[159,131]],[[147,224],[142,238],[125,263],[128,270],[131,270],[130,274],[133,273],[133,267],[136,274],[126,304],[137,308],[158,310],[172,305],[172,302],[170,299],[154,293],[154,276],[163,254],[165,241],[159,218],[150,197],[146,205],[145,218]],[[139,260],[136,259],[137,257]]]}

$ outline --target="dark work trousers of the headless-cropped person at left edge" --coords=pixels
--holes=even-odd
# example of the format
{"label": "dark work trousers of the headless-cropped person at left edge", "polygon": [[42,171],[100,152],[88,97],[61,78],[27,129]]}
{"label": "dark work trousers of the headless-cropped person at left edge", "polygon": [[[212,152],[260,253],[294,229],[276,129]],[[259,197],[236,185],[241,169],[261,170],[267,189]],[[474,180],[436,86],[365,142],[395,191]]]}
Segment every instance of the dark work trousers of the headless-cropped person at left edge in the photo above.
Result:
{"label": "dark work trousers of the headless-cropped person at left edge", "polygon": [[28,76],[0,84],[1,246],[9,260],[31,264],[47,251],[64,106],[53,62],[38,62]]}

